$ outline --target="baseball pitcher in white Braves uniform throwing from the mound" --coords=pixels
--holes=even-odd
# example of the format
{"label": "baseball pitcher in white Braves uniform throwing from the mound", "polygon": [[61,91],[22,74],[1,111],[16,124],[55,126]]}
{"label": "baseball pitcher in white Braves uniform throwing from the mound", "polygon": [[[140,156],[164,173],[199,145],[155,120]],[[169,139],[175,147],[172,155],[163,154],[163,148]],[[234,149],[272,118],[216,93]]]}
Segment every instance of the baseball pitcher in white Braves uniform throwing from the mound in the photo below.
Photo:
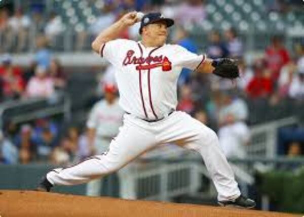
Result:
{"label": "baseball pitcher in white Braves uniform throwing from the mound", "polygon": [[241,194],[217,135],[190,115],[175,111],[177,79],[182,68],[236,78],[236,63],[230,59],[211,60],[166,44],[168,28],[174,21],[160,13],[141,18],[141,41],[117,38],[138,21],[137,12],[127,13],[100,32],[92,43],[93,50],[116,68],[120,105],[125,111],[119,134],[112,139],[108,152],[48,172],[39,189],[50,191],[54,185],[87,183],[117,171],[160,144],[175,143],[201,154],[220,205],[254,207],[255,202]]}

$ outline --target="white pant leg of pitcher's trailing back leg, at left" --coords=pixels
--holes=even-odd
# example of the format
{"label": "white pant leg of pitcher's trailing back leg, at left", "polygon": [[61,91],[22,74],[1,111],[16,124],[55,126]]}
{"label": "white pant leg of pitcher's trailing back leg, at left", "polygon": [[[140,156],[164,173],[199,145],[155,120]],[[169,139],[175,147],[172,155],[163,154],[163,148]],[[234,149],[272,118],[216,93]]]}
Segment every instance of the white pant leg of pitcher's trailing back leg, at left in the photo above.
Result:
{"label": "white pant leg of pitcher's trailing back leg, at left", "polygon": [[111,141],[108,152],[68,168],[53,169],[47,174],[47,180],[52,185],[87,183],[120,169],[154,145],[153,134],[125,121],[119,135]]}

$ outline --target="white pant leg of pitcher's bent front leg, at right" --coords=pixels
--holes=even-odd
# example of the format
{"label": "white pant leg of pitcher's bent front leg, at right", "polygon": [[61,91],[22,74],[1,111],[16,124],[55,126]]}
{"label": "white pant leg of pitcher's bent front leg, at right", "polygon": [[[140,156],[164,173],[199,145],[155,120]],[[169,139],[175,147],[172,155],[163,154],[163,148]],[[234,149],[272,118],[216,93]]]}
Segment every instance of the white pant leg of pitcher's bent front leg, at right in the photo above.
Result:
{"label": "white pant leg of pitcher's bent front leg, at right", "polygon": [[233,200],[241,195],[234,173],[218,144],[217,135],[198,120],[184,112],[169,116],[168,126],[163,126],[162,143],[178,144],[199,152],[218,192],[218,200]]}

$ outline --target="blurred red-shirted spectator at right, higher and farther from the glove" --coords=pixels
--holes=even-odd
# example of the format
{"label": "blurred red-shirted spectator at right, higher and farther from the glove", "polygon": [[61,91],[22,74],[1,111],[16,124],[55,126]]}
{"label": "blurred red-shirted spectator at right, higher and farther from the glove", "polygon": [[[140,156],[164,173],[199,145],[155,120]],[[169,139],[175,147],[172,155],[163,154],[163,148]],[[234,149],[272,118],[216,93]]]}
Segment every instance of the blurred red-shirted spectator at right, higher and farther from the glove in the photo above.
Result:
{"label": "blurred red-shirted spectator at right, higher and farther from the glove", "polygon": [[277,81],[281,68],[290,60],[287,49],[279,36],[273,36],[271,45],[265,51],[267,68],[271,71],[273,81]]}

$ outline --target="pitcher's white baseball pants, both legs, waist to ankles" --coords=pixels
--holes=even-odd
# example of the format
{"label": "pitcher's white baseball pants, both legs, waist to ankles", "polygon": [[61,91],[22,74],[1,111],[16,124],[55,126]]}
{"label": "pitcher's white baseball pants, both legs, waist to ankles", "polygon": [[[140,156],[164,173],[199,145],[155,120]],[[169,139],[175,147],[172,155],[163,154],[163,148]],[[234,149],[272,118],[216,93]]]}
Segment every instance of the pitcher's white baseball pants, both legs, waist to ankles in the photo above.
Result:
{"label": "pitcher's white baseball pants, both legs, waist to ankles", "polygon": [[176,111],[157,122],[147,122],[129,114],[109,146],[109,151],[87,158],[67,168],[47,174],[53,185],[77,185],[119,170],[127,163],[159,144],[175,143],[199,152],[218,192],[218,200],[240,196],[234,173],[218,144],[216,134],[190,115]]}

